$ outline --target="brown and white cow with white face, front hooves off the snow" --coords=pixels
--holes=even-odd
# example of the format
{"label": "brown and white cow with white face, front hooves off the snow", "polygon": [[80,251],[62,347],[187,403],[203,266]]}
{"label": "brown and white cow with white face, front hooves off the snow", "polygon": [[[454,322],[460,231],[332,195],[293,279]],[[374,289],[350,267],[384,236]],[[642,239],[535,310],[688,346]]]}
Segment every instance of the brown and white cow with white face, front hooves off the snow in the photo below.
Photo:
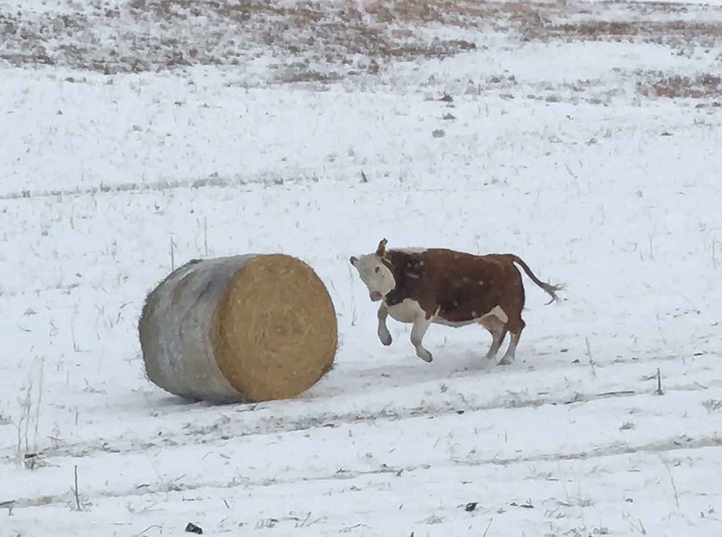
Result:
{"label": "brown and white cow with white face, front hooves off the snow", "polygon": [[557,298],[561,285],[539,280],[518,256],[489,254],[476,256],[445,248],[389,249],[386,239],[378,243],[375,253],[352,256],[351,264],[366,284],[370,299],[380,301],[378,337],[391,345],[386,318],[413,323],[411,342],[416,354],[426,362],[432,355],[422,340],[432,323],[445,326],[466,326],[479,323],[492,334],[492,345],[486,357],[493,359],[511,333],[508,350],[500,364],[514,361],[516,345],[526,323],[521,319],[524,287],[521,266],[536,285]]}

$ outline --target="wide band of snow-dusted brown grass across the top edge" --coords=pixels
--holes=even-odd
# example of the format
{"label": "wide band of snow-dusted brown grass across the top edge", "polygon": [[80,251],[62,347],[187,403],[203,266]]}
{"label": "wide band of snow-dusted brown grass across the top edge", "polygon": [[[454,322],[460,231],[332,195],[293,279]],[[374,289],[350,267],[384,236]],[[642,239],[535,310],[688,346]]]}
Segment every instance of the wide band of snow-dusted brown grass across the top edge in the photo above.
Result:
{"label": "wide band of snow-dusted brown grass across the top edge", "polygon": [[[627,12],[622,20],[608,20],[612,10],[620,17],[620,9]],[[700,16],[682,20],[692,18],[690,10]],[[375,74],[392,61],[447,58],[477,48],[472,38],[433,39],[419,32],[428,25],[472,30],[470,35],[506,32],[520,40],[641,40],[679,47],[719,45],[722,25],[715,20],[722,21],[722,9],[666,3],[378,0],[360,8],[352,0],[283,6],[273,0],[129,0],[108,9],[97,0],[73,14],[0,12],[0,58],[113,74],[238,65],[263,51],[278,59],[279,82],[326,83]]]}

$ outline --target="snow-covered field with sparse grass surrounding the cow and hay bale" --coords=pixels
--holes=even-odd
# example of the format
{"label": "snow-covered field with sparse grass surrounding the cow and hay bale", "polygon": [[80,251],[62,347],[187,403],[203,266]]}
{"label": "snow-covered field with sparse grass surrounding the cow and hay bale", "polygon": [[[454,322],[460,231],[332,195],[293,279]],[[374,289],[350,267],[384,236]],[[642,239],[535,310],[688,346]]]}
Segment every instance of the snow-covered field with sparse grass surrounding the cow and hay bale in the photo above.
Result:
{"label": "snow-covered field with sparse grass surrounding the cow and hay bale", "polygon": [[[0,0],[0,536],[722,536],[721,76],[714,3]],[[564,300],[427,364],[382,237]],[[334,370],[149,383],[147,292],[248,252],[323,278]]]}

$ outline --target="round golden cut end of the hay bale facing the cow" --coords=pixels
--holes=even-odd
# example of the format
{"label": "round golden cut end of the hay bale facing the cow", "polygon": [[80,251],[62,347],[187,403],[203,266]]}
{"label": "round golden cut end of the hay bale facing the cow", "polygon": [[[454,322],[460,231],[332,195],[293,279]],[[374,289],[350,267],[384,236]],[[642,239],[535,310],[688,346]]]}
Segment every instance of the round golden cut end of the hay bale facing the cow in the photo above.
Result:
{"label": "round golden cut end of the hay bale facing the cow", "polygon": [[219,370],[251,401],[297,396],[331,369],[336,312],[323,281],[303,261],[256,256],[236,271],[212,334]]}

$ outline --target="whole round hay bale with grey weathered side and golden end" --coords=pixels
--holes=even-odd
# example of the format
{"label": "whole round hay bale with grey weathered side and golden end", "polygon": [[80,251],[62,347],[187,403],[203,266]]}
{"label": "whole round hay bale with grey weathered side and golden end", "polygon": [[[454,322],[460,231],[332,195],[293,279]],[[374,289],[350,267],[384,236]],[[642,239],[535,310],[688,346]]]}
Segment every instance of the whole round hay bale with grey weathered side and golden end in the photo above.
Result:
{"label": "whole round hay bale with grey weathered side and golden end", "polygon": [[284,254],[181,266],[148,294],[138,329],[149,380],[217,403],[297,396],[331,369],[338,343],[323,281]]}

